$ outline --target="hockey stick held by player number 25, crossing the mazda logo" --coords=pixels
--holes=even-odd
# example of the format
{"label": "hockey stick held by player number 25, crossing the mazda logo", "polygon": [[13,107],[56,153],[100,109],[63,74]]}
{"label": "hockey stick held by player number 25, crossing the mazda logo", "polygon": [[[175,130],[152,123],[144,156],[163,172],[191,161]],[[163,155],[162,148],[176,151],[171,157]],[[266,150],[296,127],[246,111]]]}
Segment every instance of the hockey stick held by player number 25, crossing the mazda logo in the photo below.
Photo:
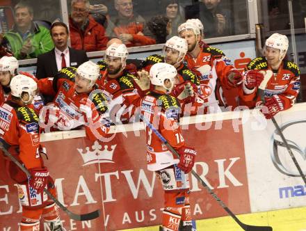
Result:
{"label": "hockey stick held by player number 25, crossing the mazda logo", "polygon": [[[268,72],[268,71],[264,75],[264,81],[262,81],[260,86],[258,87],[258,93],[260,95],[260,98],[261,98],[262,102],[265,102],[265,99],[264,99],[264,89],[266,88],[266,83],[268,83],[269,79],[271,79],[271,77],[273,75],[272,71],[270,71],[270,72]],[[289,144],[288,144],[286,138],[284,137],[284,134],[282,133],[282,129],[280,129],[280,126],[277,124],[277,122],[276,122],[274,117],[272,117],[271,120],[272,120],[272,122],[273,122],[273,124],[274,124],[274,126],[275,126],[275,128],[277,130],[277,133],[280,134],[280,137],[282,138],[282,142],[284,142],[284,145],[287,148],[287,151],[289,152],[290,157],[291,157],[294,165],[296,166],[296,168],[298,168],[298,173],[300,173],[300,177],[302,177],[303,182],[306,185],[306,177],[305,177],[302,169],[300,168],[300,165],[298,164],[298,161],[296,160],[296,157],[294,157],[294,154],[293,154],[291,148],[289,147]]]}

